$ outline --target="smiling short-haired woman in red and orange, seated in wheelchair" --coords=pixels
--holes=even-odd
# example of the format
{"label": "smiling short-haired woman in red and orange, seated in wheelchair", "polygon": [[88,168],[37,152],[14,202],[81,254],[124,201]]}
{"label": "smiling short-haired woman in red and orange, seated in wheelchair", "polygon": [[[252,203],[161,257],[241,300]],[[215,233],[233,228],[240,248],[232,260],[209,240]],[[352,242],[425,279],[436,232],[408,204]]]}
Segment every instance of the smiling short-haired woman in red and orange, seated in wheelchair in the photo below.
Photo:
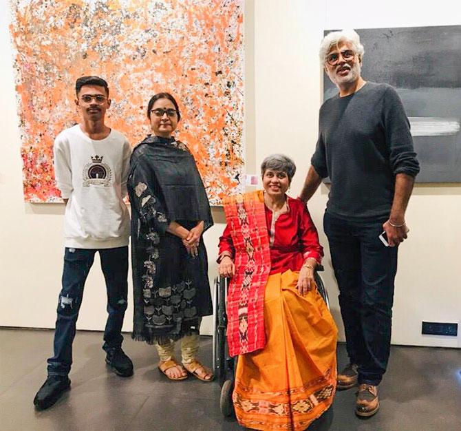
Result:
{"label": "smiling short-haired woman in red and orange, seated in wheelchair", "polygon": [[224,200],[218,262],[230,277],[233,402],[240,425],[255,430],[305,430],[336,389],[337,330],[314,281],[323,249],[308,209],[286,195],[295,170],[269,156],[264,191]]}

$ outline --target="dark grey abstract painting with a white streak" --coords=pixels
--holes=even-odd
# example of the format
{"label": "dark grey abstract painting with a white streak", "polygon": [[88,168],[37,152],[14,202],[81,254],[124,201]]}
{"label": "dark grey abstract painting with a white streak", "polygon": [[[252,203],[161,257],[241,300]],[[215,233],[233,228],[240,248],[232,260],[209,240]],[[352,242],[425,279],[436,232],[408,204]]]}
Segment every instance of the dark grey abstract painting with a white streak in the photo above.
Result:
{"label": "dark grey abstract painting with a white streak", "polygon": [[[421,164],[416,180],[461,182],[461,25],[356,32],[363,78],[392,85],[403,101]],[[337,92],[324,74],[324,100]]]}

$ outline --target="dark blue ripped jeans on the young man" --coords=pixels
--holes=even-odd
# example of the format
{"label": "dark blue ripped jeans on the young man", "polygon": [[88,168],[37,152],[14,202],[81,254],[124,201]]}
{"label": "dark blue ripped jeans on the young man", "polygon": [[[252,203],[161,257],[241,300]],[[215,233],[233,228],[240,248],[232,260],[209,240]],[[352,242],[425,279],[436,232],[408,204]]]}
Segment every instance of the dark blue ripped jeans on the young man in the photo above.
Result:
{"label": "dark blue ripped jeans on the young man", "polygon": [[48,375],[67,375],[72,364],[78,311],[82,304],[83,287],[99,252],[107,288],[107,323],[104,331],[104,350],[122,344],[122,324],[127,309],[128,247],[115,249],[69,249],[64,254],[63,288],[59,293],[54,356],[48,359]]}

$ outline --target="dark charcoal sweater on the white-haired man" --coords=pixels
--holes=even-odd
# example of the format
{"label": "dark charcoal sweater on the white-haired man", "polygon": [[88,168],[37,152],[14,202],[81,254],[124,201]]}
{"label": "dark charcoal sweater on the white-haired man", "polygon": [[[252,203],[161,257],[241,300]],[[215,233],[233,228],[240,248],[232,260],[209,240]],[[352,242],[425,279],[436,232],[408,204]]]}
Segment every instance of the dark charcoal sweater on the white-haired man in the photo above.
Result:
{"label": "dark charcoal sweater on the white-haired man", "polygon": [[396,174],[416,176],[407,115],[396,90],[366,83],[323,103],[312,166],[332,182],[327,211],[345,220],[387,218]]}

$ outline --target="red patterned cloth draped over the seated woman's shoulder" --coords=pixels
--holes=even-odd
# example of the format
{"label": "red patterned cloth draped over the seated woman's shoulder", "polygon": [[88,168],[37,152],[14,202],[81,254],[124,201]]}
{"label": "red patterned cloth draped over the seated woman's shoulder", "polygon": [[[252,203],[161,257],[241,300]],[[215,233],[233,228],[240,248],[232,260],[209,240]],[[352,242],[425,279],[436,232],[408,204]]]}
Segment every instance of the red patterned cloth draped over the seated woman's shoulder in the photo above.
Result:
{"label": "red patterned cloth draped over the seated woman's shoulder", "polygon": [[270,273],[270,249],[263,193],[253,191],[224,200],[235,246],[235,275],[227,297],[230,356],[266,345],[264,290]]}

